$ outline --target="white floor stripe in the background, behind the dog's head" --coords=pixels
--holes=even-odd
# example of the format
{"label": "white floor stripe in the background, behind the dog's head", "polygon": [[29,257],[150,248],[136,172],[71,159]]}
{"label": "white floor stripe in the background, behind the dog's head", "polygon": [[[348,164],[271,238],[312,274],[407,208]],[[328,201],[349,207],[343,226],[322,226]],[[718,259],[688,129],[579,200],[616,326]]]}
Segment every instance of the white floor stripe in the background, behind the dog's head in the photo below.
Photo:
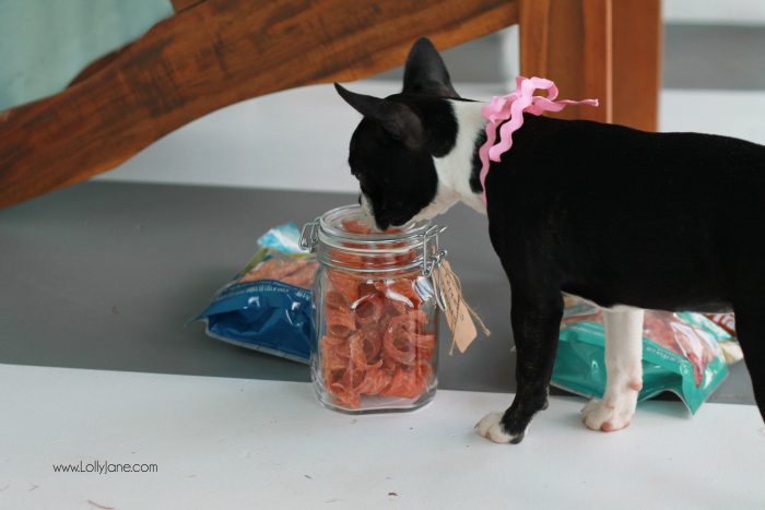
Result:
{"label": "white floor stripe in the background, behind the dog's head", "polygon": [[[350,84],[386,96],[391,82]],[[494,86],[457,84],[491,99]],[[566,97],[565,91],[561,93]],[[661,131],[701,131],[765,144],[765,92],[663,91]],[[165,137],[98,179],[355,191],[346,158],[360,115],[330,85],[280,92],[215,111]]]}

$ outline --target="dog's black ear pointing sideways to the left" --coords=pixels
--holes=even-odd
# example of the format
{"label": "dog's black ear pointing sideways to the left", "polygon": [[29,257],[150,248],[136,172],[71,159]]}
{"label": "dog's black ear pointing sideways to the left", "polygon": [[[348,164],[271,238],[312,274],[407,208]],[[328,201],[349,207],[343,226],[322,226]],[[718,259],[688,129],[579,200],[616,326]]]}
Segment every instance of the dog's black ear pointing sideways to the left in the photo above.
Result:
{"label": "dog's black ear pointing sideways to the left", "polygon": [[423,144],[423,128],[420,117],[407,105],[389,99],[356,94],[344,88],[339,83],[334,88],[340,97],[353,106],[364,117],[378,121],[386,131],[397,140],[401,140],[410,149],[419,149]]}

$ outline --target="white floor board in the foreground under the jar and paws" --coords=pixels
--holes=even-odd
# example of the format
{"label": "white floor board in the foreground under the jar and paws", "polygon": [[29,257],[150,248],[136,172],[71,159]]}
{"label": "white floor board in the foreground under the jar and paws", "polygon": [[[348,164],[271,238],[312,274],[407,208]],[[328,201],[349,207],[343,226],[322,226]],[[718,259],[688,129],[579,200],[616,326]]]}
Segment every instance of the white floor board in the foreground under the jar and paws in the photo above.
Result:
{"label": "white floor board in the foreground under the jar and paws", "polygon": [[[754,406],[640,404],[579,423],[553,398],[519,446],[473,430],[511,395],[442,391],[410,414],[349,416],[310,384],[0,365],[2,509],[755,509]],[[55,464],[156,464],[57,473]]]}

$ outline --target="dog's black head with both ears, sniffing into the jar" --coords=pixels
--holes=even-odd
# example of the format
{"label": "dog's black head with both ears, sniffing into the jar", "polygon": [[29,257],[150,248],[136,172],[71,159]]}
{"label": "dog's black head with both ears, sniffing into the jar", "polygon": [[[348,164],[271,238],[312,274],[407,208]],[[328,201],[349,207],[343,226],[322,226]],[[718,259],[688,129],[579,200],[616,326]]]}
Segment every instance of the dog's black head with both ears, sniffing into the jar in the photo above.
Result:
{"label": "dog's black head with both ears, sniffing into the jar", "polygon": [[457,120],[447,98],[459,98],[433,44],[419,39],[404,68],[403,91],[385,99],[338,93],[364,116],[351,138],[349,163],[360,200],[385,230],[444,212],[456,200],[438,199],[434,157],[451,151]]}

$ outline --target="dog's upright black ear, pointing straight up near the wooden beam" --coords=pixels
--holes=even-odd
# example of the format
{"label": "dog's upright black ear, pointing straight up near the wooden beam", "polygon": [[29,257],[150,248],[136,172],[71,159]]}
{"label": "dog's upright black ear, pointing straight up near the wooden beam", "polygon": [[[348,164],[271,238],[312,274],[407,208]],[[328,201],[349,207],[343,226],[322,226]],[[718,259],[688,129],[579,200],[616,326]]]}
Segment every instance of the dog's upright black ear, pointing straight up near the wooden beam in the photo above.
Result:
{"label": "dog's upright black ear, pointing straight up near the wooden beam", "polygon": [[427,37],[419,38],[409,50],[407,67],[403,70],[403,92],[459,97],[451,86],[444,60]]}

